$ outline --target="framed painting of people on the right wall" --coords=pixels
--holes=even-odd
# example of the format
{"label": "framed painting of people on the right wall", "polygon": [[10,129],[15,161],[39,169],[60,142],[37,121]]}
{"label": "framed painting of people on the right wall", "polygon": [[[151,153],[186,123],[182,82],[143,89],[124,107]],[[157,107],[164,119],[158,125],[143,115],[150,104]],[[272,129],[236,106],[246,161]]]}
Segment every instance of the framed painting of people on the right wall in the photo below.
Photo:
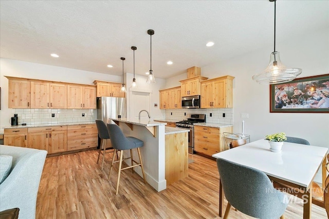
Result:
{"label": "framed painting of people on the right wall", "polygon": [[269,95],[271,113],[329,113],[329,74],[269,85]]}

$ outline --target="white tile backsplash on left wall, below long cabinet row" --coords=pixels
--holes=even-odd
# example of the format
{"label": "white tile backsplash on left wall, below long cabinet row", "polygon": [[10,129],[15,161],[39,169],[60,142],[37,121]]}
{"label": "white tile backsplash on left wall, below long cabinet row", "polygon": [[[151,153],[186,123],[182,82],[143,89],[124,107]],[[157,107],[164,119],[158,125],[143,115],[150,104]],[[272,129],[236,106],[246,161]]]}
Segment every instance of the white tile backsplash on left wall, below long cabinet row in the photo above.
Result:
{"label": "white tile backsplash on left wall, below long cabinet row", "polygon": [[19,124],[92,122],[96,120],[96,112],[96,109],[15,109]]}

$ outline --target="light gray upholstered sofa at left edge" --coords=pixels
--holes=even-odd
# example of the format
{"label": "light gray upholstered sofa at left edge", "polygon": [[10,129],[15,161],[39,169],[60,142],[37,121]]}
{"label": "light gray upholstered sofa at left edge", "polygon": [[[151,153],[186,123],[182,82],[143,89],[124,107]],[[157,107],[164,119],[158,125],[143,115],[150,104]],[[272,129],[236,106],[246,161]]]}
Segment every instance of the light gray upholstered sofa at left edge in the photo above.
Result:
{"label": "light gray upholstered sofa at left edge", "polygon": [[35,218],[36,195],[47,151],[0,145],[0,155],[12,156],[10,173],[0,184],[0,211],[20,208],[19,219]]}

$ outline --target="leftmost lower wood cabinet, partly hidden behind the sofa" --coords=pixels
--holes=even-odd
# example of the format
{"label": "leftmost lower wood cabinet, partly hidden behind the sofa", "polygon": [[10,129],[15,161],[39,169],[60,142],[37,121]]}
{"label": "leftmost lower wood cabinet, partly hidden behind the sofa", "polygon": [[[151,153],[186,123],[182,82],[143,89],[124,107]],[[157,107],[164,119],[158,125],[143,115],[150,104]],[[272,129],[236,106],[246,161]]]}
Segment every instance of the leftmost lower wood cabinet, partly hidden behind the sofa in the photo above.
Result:
{"label": "leftmost lower wood cabinet, partly hidden behind the sofa", "polygon": [[27,148],[27,128],[13,128],[4,130],[4,145]]}

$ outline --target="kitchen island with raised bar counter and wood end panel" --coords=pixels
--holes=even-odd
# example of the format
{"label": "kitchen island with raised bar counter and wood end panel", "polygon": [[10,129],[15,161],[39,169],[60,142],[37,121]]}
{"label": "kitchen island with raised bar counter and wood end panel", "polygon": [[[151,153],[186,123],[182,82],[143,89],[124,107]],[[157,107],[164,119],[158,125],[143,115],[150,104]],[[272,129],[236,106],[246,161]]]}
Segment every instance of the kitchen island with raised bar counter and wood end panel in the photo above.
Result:
{"label": "kitchen island with raised bar counter and wood end panel", "polygon": [[[146,181],[156,190],[188,176],[189,130],[166,127],[166,123],[153,120],[127,120],[111,118],[126,136],[134,136],[144,142],[140,148]],[[129,151],[126,153],[129,156]],[[137,152],[133,152],[138,157]],[[136,153],[136,154],[135,154]],[[130,160],[126,160],[131,165]],[[135,171],[142,176],[141,168]],[[168,179],[168,180],[167,180]]]}

